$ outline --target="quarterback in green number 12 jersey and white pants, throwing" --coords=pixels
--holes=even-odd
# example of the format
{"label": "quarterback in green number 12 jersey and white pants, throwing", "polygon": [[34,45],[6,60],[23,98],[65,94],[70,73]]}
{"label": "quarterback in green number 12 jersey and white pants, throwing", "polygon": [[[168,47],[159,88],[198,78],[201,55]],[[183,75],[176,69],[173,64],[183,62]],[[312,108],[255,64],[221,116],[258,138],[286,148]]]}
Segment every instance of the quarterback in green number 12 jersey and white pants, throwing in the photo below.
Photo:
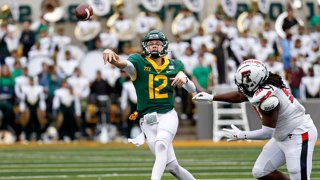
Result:
{"label": "quarterback in green number 12 jersey and white pants, throwing", "polygon": [[195,179],[176,159],[172,141],[178,128],[173,91],[183,87],[193,93],[196,87],[184,74],[180,60],[166,57],[168,40],[157,30],[150,31],[142,41],[143,53],[132,54],[128,60],[119,59],[112,50],[103,52],[104,62],[124,70],[136,89],[137,112],[142,133],[130,142],[139,146],[145,141],[155,155],[152,180],[160,180],[165,169],[178,179]]}

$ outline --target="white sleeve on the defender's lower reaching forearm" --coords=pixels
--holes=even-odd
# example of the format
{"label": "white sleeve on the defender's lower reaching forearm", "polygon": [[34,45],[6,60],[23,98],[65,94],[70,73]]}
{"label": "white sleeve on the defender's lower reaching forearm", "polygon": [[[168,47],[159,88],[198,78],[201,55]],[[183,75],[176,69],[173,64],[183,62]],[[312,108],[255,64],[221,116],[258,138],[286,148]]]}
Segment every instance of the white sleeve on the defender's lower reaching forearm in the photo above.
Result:
{"label": "white sleeve on the defender's lower reaching forearm", "polygon": [[264,140],[271,139],[274,133],[274,128],[263,126],[261,129],[254,131],[242,131],[240,134],[241,139],[251,139],[251,140]]}

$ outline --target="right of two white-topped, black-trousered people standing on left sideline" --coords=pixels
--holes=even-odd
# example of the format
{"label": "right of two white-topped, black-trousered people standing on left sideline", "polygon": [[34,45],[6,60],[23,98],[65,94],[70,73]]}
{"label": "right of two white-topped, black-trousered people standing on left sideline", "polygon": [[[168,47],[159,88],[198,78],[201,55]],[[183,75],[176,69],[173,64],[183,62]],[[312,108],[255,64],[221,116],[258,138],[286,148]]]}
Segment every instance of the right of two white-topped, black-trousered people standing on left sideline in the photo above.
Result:
{"label": "right of two white-topped, black-trousered people standing on left sideline", "polygon": [[77,119],[81,115],[81,104],[79,97],[74,95],[66,81],[63,81],[61,88],[54,93],[53,110],[61,124],[58,130],[59,140],[75,140],[75,133],[79,129]]}

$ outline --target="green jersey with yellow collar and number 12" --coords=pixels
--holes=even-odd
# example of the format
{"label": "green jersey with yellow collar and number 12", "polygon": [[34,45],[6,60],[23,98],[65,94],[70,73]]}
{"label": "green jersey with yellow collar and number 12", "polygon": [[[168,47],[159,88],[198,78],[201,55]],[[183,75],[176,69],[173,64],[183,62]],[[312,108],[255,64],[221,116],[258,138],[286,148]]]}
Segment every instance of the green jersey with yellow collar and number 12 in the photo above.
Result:
{"label": "green jersey with yellow collar and number 12", "polygon": [[140,115],[151,112],[166,113],[174,108],[174,78],[184,66],[180,60],[164,58],[158,66],[151,58],[133,54],[128,60],[134,65],[136,77],[133,85],[137,92],[137,110]]}

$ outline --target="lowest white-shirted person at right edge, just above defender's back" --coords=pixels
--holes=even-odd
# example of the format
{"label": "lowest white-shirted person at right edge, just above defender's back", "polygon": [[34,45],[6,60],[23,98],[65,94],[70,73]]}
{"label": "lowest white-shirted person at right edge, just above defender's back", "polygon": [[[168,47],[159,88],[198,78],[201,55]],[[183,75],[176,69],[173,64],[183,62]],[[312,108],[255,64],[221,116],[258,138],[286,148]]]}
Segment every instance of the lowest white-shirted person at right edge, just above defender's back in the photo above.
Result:
{"label": "lowest white-shirted person at right edge, just above defender's back", "polygon": [[313,67],[309,68],[309,73],[301,79],[300,84],[301,99],[320,98],[320,76],[314,76]]}

